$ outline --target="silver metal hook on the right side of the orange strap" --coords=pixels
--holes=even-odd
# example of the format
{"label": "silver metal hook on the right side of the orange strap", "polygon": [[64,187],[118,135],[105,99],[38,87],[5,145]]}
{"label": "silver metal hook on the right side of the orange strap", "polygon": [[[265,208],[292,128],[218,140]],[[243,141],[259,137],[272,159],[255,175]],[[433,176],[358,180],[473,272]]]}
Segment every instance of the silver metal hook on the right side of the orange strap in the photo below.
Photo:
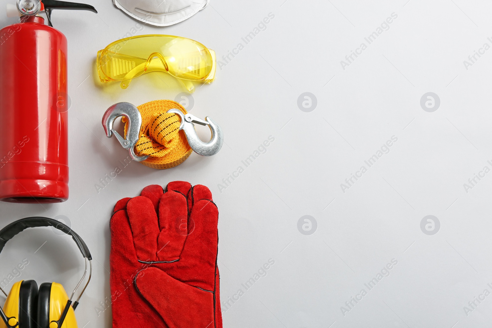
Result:
{"label": "silver metal hook on the right side of the orange strap", "polygon": [[[215,155],[221,148],[224,143],[224,135],[222,133],[222,128],[215,123],[215,121],[208,116],[203,119],[199,119],[191,114],[183,114],[182,111],[178,109],[170,109],[167,113],[173,113],[180,117],[181,125],[180,130],[184,131],[186,135],[186,139],[188,140],[189,147],[193,149],[199,155],[202,156],[212,156]],[[210,132],[212,133],[212,137],[208,143],[204,143],[198,137],[198,134],[195,131],[195,127],[193,123],[197,123],[200,125],[208,125],[210,128]]]}

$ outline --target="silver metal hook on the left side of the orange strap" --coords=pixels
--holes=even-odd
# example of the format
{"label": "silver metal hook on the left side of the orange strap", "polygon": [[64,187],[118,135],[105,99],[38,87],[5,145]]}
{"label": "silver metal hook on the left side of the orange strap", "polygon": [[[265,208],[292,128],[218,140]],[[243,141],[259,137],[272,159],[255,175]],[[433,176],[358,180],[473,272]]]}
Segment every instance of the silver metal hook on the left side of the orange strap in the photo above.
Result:
{"label": "silver metal hook on the left side of the orange strap", "polygon": [[[117,131],[113,129],[114,122],[119,117],[125,117],[128,120],[128,130],[126,131],[126,138],[123,138]],[[106,131],[106,136],[111,138],[113,134],[116,139],[120,142],[124,149],[128,149],[130,152],[130,157],[134,161],[141,162],[145,161],[149,156],[138,156],[135,153],[135,146],[139,139],[140,129],[142,127],[142,116],[134,105],[128,102],[119,102],[114,104],[102,117],[102,125],[104,131]]]}

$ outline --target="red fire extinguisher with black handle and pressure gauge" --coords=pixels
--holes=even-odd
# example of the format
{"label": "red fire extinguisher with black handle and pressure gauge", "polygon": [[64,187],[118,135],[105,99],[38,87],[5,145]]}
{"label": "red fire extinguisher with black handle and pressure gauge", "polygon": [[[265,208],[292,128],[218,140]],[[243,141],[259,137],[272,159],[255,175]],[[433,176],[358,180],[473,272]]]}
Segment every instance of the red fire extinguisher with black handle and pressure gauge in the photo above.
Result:
{"label": "red fire extinguisher with black handle and pressure gauge", "polygon": [[67,41],[51,24],[53,9],[97,13],[83,3],[17,0],[19,23],[0,30],[1,201],[68,199]]}

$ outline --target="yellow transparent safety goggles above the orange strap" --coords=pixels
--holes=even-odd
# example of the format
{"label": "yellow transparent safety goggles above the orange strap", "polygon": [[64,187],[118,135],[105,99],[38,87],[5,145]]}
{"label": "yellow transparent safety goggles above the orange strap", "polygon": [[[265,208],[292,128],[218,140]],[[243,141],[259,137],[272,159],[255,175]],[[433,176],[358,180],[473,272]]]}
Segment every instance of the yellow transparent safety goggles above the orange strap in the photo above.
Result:
{"label": "yellow transparent safety goggles above the orange strap", "polygon": [[167,72],[194,92],[192,82],[215,79],[215,51],[203,44],[173,35],[131,36],[97,52],[101,82],[121,81],[123,89],[131,80],[148,72]]}

